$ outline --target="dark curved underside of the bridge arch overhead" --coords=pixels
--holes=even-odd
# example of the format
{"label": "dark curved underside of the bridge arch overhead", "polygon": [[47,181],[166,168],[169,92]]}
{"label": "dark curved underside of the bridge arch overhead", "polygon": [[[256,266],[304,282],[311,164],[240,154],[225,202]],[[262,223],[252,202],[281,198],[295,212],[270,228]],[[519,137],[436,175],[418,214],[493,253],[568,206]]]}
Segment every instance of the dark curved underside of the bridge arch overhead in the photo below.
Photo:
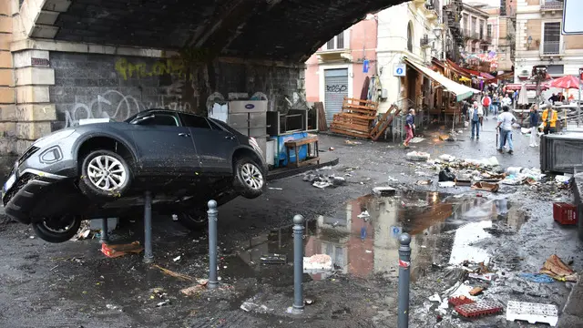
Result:
{"label": "dark curved underside of the bridge arch overhead", "polygon": [[302,62],[367,13],[403,2],[48,0],[35,25],[40,36],[57,40],[199,48],[220,56]]}

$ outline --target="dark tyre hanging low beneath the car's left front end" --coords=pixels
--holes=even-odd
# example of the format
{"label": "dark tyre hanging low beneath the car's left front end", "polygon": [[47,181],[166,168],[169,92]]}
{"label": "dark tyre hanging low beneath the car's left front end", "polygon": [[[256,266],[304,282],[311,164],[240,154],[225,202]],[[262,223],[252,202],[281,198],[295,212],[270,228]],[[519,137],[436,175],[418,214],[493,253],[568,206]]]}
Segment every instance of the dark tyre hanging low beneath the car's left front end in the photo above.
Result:
{"label": "dark tyre hanging low beneath the car's left front end", "polygon": [[38,238],[48,242],[65,242],[75,236],[81,226],[81,217],[64,215],[33,223]]}

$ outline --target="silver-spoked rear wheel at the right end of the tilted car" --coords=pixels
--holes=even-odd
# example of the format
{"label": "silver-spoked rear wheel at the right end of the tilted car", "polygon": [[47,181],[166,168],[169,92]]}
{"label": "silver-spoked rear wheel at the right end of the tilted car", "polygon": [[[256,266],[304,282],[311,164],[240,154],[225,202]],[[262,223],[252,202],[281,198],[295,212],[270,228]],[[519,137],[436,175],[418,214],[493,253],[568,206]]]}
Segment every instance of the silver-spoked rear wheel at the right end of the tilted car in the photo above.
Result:
{"label": "silver-spoked rear wheel at the right end of the tilted car", "polygon": [[246,199],[260,197],[265,189],[265,172],[261,165],[251,158],[238,159],[235,162],[235,190]]}

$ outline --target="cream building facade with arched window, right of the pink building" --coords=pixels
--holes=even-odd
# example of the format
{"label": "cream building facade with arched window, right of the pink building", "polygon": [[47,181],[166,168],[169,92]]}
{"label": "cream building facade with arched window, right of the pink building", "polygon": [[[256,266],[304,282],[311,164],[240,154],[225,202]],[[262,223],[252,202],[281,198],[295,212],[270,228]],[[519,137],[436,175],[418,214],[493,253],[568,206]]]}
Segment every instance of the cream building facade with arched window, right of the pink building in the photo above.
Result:
{"label": "cream building facade with arched window, right of the pink building", "polygon": [[445,59],[446,31],[440,1],[410,1],[378,13],[378,72],[383,88],[379,111],[396,103],[400,108],[431,106],[434,97],[428,78],[406,66],[404,57],[431,65],[433,57]]}

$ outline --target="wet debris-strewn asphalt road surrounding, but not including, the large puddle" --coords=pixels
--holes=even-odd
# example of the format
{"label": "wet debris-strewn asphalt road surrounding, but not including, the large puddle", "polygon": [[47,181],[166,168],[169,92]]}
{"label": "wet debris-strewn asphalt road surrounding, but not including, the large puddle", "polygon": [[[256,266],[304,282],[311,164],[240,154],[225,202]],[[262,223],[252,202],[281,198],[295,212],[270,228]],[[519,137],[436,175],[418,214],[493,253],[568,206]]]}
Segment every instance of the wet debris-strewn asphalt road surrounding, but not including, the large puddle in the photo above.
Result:
{"label": "wet debris-strewn asphalt road surrounding, but not including, the large puddle", "polygon": [[[98,251],[97,240],[69,241],[50,244],[31,239],[33,232],[19,224],[0,226],[0,326],[2,327],[256,327],[294,326],[310,323],[314,327],[394,327],[395,280],[381,274],[372,277],[353,277],[351,274],[335,277],[333,281],[312,281],[306,284],[308,295],[319,302],[307,308],[303,318],[293,318],[284,313],[265,315],[245,313],[239,310],[242,301],[258,292],[271,295],[274,308],[291,305],[290,269],[269,269],[259,273],[238,260],[236,254],[252,237],[265,231],[289,225],[294,214],[300,213],[309,220],[319,216],[338,216],[344,210],[343,203],[370,193],[374,186],[387,185],[389,177],[397,179],[392,185],[402,189],[437,190],[432,186],[414,186],[420,178],[404,154],[411,150],[423,150],[436,158],[450,154],[458,158],[483,159],[496,156],[503,168],[508,166],[538,167],[538,149],[528,148],[527,137],[515,132],[515,154],[498,154],[495,148],[495,123],[485,122],[480,139],[469,140],[466,131],[458,141],[444,142],[437,134],[427,133],[424,142],[415,149],[401,149],[393,143],[362,140],[360,145],[347,145],[345,138],[321,136],[321,149],[333,147],[331,152],[340,158],[340,164],[330,171],[344,175],[348,168],[351,176],[348,184],[336,189],[313,188],[301,177],[273,181],[268,190],[256,200],[233,200],[220,208],[220,275],[233,289],[185,297],[181,288],[192,282],[179,281],[149,265],[139,256],[107,259]],[[328,173],[328,172],[326,172]],[[432,173],[436,180],[435,172]],[[444,191],[444,190],[440,190]],[[450,193],[467,192],[468,189],[446,190]],[[548,190],[545,190],[547,192]],[[503,188],[511,194],[517,208],[525,211],[527,223],[520,231],[502,235],[483,243],[485,249],[495,251],[499,267],[512,271],[537,271],[542,262],[553,252],[561,258],[574,259],[574,267],[581,270],[579,257],[581,244],[575,231],[558,229],[548,220],[552,210],[551,200],[561,197],[560,192],[551,194],[525,190],[523,187]],[[120,229],[118,238],[125,241],[140,240],[140,224],[128,223]],[[207,251],[204,232],[189,232],[169,218],[157,218],[154,233],[156,264],[191,277],[205,277]],[[450,245],[451,236],[437,234],[439,244]],[[445,236],[443,239],[439,236]],[[365,250],[363,250],[365,251]],[[364,252],[365,253],[365,252]],[[440,257],[437,256],[435,259]],[[173,261],[180,256],[180,260]],[[516,260],[516,259],[524,260]],[[437,261],[437,260],[436,260]],[[281,271],[281,272],[278,272]],[[262,274],[265,273],[265,274]],[[426,272],[430,281],[441,279],[445,272]],[[441,277],[441,278],[440,278]],[[435,315],[425,309],[426,298],[438,288],[432,282],[419,280],[412,293],[412,326],[435,325]],[[531,292],[537,288],[521,284],[522,293],[513,292],[516,285],[497,286],[500,301],[507,295],[532,300],[564,304],[568,288],[544,287],[543,292]],[[170,304],[156,307],[160,298],[152,289],[163,288]],[[540,290],[540,289],[538,289]],[[234,292],[233,292],[234,291]],[[542,294],[542,296],[541,296]],[[330,295],[330,297],[326,296]],[[497,296],[496,296],[497,297]],[[506,298],[505,298],[506,297]],[[287,305],[286,305],[287,304]],[[388,310],[387,310],[388,309]],[[506,323],[503,316],[496,316],[482,323],[466,323],[445,320],[439,326],[517,326]]]}

